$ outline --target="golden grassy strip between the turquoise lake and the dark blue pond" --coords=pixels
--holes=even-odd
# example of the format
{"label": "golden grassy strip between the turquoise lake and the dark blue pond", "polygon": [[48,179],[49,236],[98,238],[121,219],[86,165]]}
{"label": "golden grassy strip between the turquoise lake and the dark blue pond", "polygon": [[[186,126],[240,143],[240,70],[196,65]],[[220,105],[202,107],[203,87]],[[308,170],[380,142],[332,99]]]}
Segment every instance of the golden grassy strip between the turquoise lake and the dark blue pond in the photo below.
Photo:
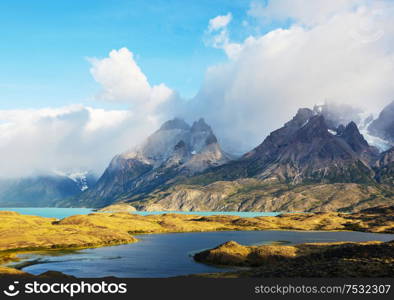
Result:
{"label": "golden grassy strip between the turquoise lake and the dark blue pond", "polygon": [[[255,218],[92,213],[62,220],[2,211],[0,264],[16,260],[19,253],[133,243],[137,242],[133,235],[147,233],[221,230],[356,230],[394,233],[393,216],[394,207],[369,209],[355,214],[330,212]],[[0,268],[0,275],[18,272],[12,268]]]}

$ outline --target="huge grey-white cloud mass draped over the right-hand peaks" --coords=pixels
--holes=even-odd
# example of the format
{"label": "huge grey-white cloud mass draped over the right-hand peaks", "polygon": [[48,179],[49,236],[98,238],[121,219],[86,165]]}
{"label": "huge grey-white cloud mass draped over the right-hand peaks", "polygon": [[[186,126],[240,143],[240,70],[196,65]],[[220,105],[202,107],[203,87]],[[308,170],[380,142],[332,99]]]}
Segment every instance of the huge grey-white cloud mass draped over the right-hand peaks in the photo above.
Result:
{"label": "huge grey-white cloud mass draped over the right-hand peaks", "polygon": [[205,116],[228,148],[258,145],[299,107],[336,102],[376,114],[393,100],[394,3],[322,0],[315,10],[311,2],[254,2],[252,17],[293,21],[247,37],[236,55],[222,29],[213,46],[229,60],[209,68],[189,111]]}

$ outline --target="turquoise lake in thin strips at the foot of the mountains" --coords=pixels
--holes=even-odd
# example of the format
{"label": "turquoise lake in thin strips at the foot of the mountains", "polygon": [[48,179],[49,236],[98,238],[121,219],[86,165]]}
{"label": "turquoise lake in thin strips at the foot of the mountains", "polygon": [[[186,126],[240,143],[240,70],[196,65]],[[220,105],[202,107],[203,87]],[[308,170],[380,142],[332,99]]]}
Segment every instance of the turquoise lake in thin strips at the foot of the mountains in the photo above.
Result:
{"label": "turquoise lake in thin strips at the foot of the mountains", "polygon": [[[94,212],[90,208],[58,208],[58,207],[3,207],[0,210],[15,211],[24,215],[33,215],[47,218],[63,219],[73,215],[86,215]],[[203,212],[184,212],[184,211],[137,211],[134,214],[146,216],[146,215],[161,215],[168,213],[178,213],[185,215],[199,215],[199,216],[212,216],[212,215],[231,215],[239,217],[260,217],[260,216],[277,216],[278,212],[223,212],[223,211],[203,211]]]}

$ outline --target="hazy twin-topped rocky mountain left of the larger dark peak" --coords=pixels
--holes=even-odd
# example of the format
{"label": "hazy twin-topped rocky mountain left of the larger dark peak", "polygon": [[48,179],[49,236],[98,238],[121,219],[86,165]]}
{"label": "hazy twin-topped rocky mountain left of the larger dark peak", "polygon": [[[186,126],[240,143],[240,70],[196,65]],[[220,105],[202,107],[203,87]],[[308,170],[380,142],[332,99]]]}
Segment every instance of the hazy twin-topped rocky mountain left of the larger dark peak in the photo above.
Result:
{"label": "hazy twin-topped rocky mountain left of the larger dark peak", "polygon": [[229,157],[204,119],[192,126],[182,119],[173,119],[135,150],[117,155],[96,186],[78,201],[84,205],[105,206],[228,161]]}

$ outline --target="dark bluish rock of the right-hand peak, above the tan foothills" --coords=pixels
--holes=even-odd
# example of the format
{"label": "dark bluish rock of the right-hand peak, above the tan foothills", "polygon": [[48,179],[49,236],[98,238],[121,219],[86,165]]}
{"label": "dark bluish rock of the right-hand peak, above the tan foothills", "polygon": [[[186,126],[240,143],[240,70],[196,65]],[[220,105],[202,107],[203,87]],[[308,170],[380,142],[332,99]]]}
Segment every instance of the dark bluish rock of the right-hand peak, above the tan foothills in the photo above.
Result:
{"label": "dark bluish rock of the right-hand peak, above the tan foothills", "polygon": [[[370,147],[354,123],[344,127],[343,132],[346,138],[333,134],[323,115],[300,109],[291,121],[273,131],[255,149],[210,171],[208,177],[217,180],[254,177],[291,184],[373,181]],[[362,155],[352,148],[358,149],[360,145],[365,147]]]}

